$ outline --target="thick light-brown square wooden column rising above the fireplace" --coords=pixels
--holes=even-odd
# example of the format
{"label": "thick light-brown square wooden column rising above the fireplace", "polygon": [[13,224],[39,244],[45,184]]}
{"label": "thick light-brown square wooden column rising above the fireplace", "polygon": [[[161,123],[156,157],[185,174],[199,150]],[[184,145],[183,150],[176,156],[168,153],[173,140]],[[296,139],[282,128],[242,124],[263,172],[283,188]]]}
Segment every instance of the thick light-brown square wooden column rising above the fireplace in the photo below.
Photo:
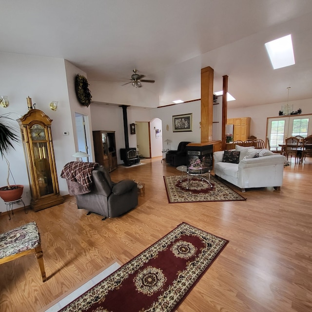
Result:
{"label": "thick light-brown square wooden column rising above the fireplace", "polygon": [[201,69],[201,128],[200,141],[213,140],[214,69]]}

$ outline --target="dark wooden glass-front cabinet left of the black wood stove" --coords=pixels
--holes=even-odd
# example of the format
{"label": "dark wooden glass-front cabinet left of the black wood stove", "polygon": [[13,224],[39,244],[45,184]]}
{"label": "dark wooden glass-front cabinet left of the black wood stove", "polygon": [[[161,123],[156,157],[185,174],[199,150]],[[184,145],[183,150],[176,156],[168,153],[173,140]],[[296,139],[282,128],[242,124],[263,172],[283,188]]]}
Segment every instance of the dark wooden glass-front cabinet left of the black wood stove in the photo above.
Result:
{"label": "dark wooden glass-front cabinet left of the black wood stove", "polygon": [[108,171],[117,168],[115,131],[93,131],[96,162]]}

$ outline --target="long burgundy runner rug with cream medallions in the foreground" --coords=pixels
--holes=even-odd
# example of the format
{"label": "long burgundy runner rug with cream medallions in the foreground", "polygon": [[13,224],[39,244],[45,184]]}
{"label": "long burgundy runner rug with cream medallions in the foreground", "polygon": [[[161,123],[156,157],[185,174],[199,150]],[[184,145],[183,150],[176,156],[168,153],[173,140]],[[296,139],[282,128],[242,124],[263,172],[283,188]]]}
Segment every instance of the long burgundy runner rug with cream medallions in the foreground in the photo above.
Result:
{"label": "long burgundy runner rug with cream medallions in the foreground", "polygon": [[181,223],[62,312],[172,312],[228,240]]}

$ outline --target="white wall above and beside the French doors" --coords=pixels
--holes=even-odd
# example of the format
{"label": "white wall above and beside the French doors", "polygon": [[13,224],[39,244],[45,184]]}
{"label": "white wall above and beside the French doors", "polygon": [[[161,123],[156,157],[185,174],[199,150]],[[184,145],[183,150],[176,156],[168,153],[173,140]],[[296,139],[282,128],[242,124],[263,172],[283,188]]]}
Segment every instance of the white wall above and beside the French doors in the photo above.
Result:
{"label": "white wall above and beside the French doors", "polygon": [[[297,101],[290,101],[289,104],[293,104],[293,110],[297,111],[302,109],[302,114],[312,113],[312,99],[303,99]],[[272,103],[266,105],[257,105],[244,108],[228,109],[228,118],[238,117],[251,117],[250,135],[257,138],[261,138],[265,141],[267,117],[276,117],[280,111],[282,103]]]}

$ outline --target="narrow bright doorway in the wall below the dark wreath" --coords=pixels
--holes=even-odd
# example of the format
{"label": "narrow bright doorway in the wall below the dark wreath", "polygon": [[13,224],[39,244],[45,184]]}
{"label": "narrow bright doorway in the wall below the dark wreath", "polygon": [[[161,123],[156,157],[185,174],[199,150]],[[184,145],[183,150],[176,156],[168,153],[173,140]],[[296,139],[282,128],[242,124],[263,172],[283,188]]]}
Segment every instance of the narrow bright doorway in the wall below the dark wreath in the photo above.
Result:
{"label": "narrow bright doorway in the wall below the dark wreath", "polygon": [[[90,137],[87,135],[88,132],[88,116],[75,113],[75,122],[76,122],[76,134],[77,134],[77,152],[85,152],[89,154],[90,146]],[[89,162],[89,157],[83,157],[83,161]]]}

